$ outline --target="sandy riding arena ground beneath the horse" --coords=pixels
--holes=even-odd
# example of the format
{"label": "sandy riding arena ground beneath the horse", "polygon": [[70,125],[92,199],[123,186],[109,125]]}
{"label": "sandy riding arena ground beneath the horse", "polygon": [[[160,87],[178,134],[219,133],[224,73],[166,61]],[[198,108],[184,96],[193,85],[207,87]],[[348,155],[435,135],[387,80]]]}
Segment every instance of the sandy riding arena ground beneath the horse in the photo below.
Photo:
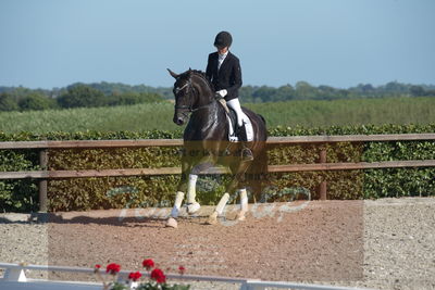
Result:
{"label": "sandy riding arena ground beneath the horse", "polygon": [[[183,265],[188,274],[435,289],[433,198],[250,205],[239,223],[228,207],[226,219],[204,225],[211,210],[182,216],[177,229],[164,227],[169,210],[57,213],[47,223],[3,214],[0,261],[83,267],[115,262],[133,270],[151,257],[171,273]],[[208,288],[237,286],[194,283]]]}

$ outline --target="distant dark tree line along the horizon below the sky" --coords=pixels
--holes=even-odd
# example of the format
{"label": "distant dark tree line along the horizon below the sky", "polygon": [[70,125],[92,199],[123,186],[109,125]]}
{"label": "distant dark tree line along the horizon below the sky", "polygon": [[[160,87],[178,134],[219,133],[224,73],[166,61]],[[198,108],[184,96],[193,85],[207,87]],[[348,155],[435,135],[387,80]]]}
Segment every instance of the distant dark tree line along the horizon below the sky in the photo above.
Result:
{"label": "distant dark tree line along the horizon below the sky", "polygon": [[[129,86],[121,83],[75,83],[66,88],[28,89],[24,87],[0,87],[0,93],[8,93],[7,104],[1,104],[0,112],[16,111],[14,105],[29,94],[38,94],[48,101],[57,100],[60,108],[90,108],[105,105],[130,105],[145,102],[162,101],[173,99],[171,87],[150,87],[145,85]],[[102,98],[102,94],[105,98]],[[290,100],[339,100],[339,99],[366,99],[366,98],[409,98],[409,97],[435,97],[435,86],[411,85],[390,81],[383,86],[374,87],[371,84],[360,84],[348,89],[339,89],[331,86],[312,86],[307,81],[298,81],[295,86],[289,84],[281,87],[270,86],[244,86],[239,90],[244,103],[283,102]],[[40,109],[21,110],[46,110],[51,105]]]}

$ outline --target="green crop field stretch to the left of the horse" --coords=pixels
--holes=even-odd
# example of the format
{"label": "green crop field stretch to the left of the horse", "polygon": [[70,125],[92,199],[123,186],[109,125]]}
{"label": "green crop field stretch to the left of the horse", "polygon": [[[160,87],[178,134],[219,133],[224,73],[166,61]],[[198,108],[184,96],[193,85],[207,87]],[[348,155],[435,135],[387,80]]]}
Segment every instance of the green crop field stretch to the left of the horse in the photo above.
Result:
{"label": "green crop field stretch to the left of the horse", "polygon": [[36,134],[52,131],[141,131],[146,129],[181,130],[172,122],[174,105],[145,103],[110,108],[0,113],[0,131]]}

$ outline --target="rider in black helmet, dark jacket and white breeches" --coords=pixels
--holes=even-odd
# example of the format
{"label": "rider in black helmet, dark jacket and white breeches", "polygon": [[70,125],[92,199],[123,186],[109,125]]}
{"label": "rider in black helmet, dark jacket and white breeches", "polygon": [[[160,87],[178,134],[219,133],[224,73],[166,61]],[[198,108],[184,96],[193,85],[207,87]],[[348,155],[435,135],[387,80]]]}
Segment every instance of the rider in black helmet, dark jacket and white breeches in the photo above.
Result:
{"label": "rider in black helmet, dark jacket and white breeches", "polygon": [[[221,31],[216,35],[214,47],[217,51],[209,54],[206,76],[213,84],[216,97],[224,98],[226,104],[236,112],[237,126],[251,126],[248,116],[241,111],[238,100],[238,89],[241,87],[241,70],[238,58],[229,52],[232,42],[233,37],[229,33]],[[248,161],[253,160],[252,151],[245,142],[243,142],[243,146],[241,157]]]}

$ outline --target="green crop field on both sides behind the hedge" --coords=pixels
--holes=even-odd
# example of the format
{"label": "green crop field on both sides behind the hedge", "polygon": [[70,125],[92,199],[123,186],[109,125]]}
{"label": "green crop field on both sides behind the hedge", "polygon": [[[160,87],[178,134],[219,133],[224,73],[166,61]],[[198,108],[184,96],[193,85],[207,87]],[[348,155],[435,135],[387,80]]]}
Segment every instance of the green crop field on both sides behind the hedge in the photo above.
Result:
{"label": "green crop field on both sides behind the hedge", "polygon": [[[245,105],[264,116],[269,128],[435,123],[435,98],[288,101]],[[170,102],[25,113],[3,112],[0,113],[0,131],[179,131],[183,127],[172,122],[173,115],[174,105]]]}

